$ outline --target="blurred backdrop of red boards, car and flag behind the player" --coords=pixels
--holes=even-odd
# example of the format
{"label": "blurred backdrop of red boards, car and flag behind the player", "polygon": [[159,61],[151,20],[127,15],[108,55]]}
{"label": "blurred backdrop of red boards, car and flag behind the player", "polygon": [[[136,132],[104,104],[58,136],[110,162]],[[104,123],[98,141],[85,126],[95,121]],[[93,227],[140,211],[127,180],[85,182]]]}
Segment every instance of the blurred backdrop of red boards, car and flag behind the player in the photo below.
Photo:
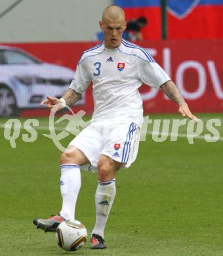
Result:
{"label": "blurred backdrop of red boards, car and flag behind the player", "polygon": [[[193,112],[223,110],[223,0],[1,0],[0,116],[47,116],[39,104],[61,97],[81,53],[103,40],[108,5],[125,10],[125,39],[148,49]],[[177,112],[163,93],[140,88],[144,112]],[[74,110],[92,114],[92,89]]]}

